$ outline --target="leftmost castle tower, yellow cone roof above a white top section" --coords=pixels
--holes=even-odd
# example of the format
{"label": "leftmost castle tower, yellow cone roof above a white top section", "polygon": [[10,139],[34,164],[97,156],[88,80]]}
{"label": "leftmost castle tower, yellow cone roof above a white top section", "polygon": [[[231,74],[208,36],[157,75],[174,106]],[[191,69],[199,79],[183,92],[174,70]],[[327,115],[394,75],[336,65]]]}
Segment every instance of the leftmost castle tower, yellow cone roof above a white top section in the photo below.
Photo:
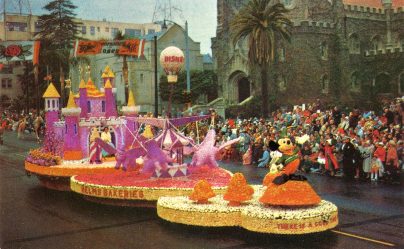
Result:
{"label": "leftmost castle tower, yellow cone roof above a white top section", "polygon": [[46,133],[54,131],[54,123],[59,121],[60,95],[51,82],[42,98],[45,99]]}

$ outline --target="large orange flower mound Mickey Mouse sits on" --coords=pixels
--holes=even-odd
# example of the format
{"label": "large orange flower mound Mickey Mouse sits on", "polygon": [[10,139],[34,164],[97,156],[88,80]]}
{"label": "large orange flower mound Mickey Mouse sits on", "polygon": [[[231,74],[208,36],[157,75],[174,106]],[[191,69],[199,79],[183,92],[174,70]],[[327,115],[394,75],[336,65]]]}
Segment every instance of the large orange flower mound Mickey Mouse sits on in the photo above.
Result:
{"label": "large orange flower mound Mickey Mouse sits on", "polygon": [[321,198],[307,182],[288,181],[281,185],[271,182],[259,200],[271,205],[297,206],[320,203]]}

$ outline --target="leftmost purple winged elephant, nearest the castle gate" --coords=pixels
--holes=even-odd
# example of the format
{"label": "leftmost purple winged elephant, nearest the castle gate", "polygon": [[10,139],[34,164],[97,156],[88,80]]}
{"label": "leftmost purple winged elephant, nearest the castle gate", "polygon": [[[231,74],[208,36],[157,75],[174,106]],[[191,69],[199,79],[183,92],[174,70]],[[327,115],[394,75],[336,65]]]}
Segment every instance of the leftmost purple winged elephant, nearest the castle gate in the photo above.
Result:
{"label": "leftmost purple winged elephant, nearest the castle gate", "polygon": [[136,159],[140,156],[145,156],[147,154],[146,149],[143,146],[136,147],[129,150],[124,149],[115,149],[108,143],[104,142],[100,138],[96,138],[95,142],[97,142],[101,148],[107,151],[110,154],[115,154],[116,165],[115,169],[119,169],[120,165],[122,165],[122,170],[126,170],[128,166],[135,166]]}

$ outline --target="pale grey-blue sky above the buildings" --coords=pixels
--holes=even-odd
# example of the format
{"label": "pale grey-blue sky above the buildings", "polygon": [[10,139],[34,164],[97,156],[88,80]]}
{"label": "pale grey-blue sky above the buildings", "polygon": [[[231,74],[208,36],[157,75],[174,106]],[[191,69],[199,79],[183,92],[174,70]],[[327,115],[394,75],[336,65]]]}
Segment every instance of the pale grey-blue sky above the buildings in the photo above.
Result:
{"label": "pale grey-blue sky above the buildings", "polygon": [[[50,1],[31,0],[31,13],[33,15],[49,13],[43,6]],[[77,6],[75,9],[77,18],[95,21],[106,18],[111,22],[127,23],[152,23],[156,3],[163,6],[164,2],[171,2],[172,7],[182,9],[182,14],[188,22],[189,37],[201,43],[201,53],[212,54],[211,38],[216,36],[217,27],[216,0],[71,0],[71,2]],[[185,25],[175,11],[172,11],[172,20],[179,25]]]}

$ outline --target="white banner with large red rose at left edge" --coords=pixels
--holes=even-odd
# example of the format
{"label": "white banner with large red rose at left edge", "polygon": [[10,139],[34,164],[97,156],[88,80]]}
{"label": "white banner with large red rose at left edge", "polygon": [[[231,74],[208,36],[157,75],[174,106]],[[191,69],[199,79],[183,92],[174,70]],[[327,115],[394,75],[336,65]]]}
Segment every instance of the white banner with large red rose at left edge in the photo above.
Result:
{"label": "white banner with large red rose at left edge", "polygon": [[38,64],[40,42],[0,42],[0,62],[32,60]]}

